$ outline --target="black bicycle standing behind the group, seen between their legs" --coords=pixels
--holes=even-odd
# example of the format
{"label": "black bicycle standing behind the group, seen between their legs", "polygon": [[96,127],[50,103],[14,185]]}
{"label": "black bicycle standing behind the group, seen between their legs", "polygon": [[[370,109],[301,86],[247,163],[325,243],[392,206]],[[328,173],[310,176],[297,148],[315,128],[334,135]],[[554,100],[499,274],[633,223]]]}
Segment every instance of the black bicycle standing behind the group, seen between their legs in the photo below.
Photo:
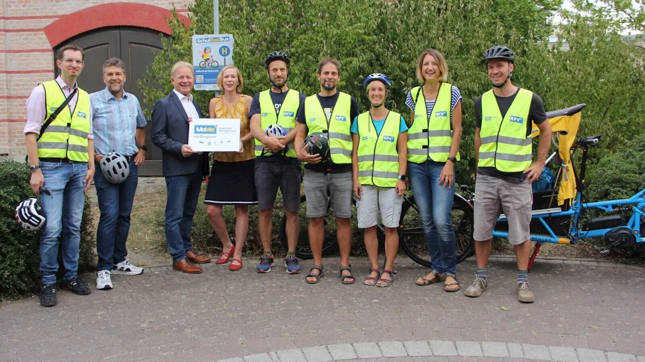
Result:
{"label": "black bicycle standing behind the group, seen between their legs", "polygon": [[[461,186],[459,191],[466,192],[466,186]],[[328,191],[329,195],[329,191]],[[309,235],[306,221],[306,198],[301,196],[301,223],[298,243],[295,249],[295,255],[300,259],[311,259],[312,251],[309,246]],[[352,204],[355,206],[356,200],[352,197]],[[335,227],[335,216],[327,208],[327,215],[324,220],[324,242],[323,256],[333,254],[337,251],[337,230]],[[355,209],[355,208],[353,208]],[[356,217],[353,215],[352,221]],[[460,193],[455,193],[453,198],[451,220],[455,231],[455,242],[457,243],[457,263],[461,263],[466,258],[475,254],[475,244],[473,243],[473,207],[470,200],[464,198]],[[403,196],[403,205],[401,208],[401,222],[399,223],[399,247],[414,262],[430,267],[432,262],[428,258],[428,244],[423,234],[421,215],[414,201],[414,195]],[[383,225],[377,225],[377,237],[379,245],[382,247],[385,242],[385,229]],[[286,214],[283,214],[280,222],[280,242],[284,249],[288,247],[286,240]]]}

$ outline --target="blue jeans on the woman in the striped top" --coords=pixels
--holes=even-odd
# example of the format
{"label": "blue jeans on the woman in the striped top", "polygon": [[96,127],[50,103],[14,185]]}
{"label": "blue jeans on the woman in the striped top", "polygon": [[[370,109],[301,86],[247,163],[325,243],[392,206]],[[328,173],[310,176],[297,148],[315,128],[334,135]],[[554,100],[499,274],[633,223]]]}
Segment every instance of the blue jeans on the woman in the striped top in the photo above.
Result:
{"label": "blue jeans on the woman in the striped top", "polygon": [[443,167],[443,164],[430,160],[423,164],[408,162],[410,184],[421,214],[423,234],[428,242],[431,269],[457,276],[457,244],[450,221],[455,186],[446,186],[444,189],[439,185]]}

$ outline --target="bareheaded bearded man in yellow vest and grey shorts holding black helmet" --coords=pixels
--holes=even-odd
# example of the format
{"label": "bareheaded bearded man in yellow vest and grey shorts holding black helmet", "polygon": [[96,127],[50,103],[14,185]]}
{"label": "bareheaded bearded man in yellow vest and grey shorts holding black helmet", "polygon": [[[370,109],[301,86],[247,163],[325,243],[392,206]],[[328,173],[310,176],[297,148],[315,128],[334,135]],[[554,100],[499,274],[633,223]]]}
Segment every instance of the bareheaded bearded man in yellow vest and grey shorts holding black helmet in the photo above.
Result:
{"label": "bareheaded bearded man in yellow vest and grey shorts holding black helmet", "polygon": [[[304,195],[307,198],[309,243],[313,267],[307,283],[314,284],[323,276],[324,216],[328,203],[336,216],[338,243],[341,252],[340,276],[343,284],[354,283],[350,266],[352,249],[352,135],[350,126],[361,111],[356,100],[336,89],[341,79],[341,64],[333,58],[324,58],[318,64],[319,93],[307,97],[297,115],[295,149],[304,166]],[[304,138],[312,133],[323,133],[330,144],[330,160],[321,163],[321,155],[310,154]],[[327,196],[330,191],[330,198]]]}

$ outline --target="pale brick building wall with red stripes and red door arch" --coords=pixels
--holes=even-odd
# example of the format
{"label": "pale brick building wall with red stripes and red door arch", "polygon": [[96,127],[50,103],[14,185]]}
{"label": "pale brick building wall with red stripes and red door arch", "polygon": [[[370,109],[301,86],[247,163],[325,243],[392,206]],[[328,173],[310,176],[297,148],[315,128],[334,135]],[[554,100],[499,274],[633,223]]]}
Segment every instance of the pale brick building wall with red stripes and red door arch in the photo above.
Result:
{"label": "pale brick building wall with red stripes and red door arch", "polygon": [[34,86],[54,78],[57,45],[110,26],[168,33],[168,9],[185,15],[191,2],[0,0],[0,153],[24,160],[25,102]]}

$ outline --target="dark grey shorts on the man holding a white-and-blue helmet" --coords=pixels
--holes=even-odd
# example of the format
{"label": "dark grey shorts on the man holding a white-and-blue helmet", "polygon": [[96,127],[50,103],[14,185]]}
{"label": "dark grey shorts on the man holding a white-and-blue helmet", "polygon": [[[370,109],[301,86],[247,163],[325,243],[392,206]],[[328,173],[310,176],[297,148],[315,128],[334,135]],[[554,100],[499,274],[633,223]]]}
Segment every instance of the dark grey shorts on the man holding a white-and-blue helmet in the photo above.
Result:
{"label": "dark grey shorts on the man holding a white-and-blue helmet", "polygon": [[272,209],[278,187],[286,211],[300,211],[299,162],[255,162],[257,209]]}

